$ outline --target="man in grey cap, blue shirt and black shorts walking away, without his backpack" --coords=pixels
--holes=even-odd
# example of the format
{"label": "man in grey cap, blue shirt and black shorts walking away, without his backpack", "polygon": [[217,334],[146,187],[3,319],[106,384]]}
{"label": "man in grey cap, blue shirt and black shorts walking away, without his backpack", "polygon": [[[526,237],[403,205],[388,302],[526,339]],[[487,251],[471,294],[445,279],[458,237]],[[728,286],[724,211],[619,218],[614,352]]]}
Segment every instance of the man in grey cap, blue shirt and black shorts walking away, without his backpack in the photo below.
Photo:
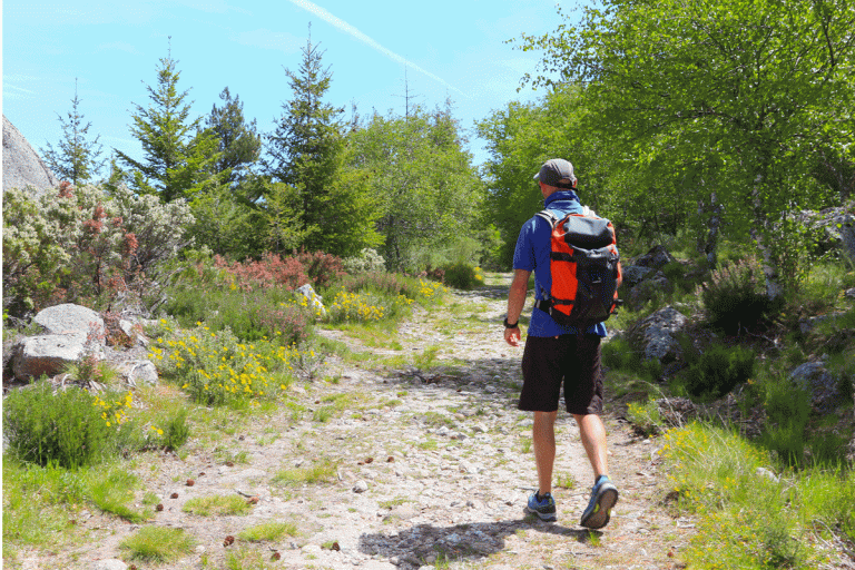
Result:
{"label": "man in grey cap, blue shirt and black shorts walking away, without his backpack", "polygon": [[[582,213],[576,194],[573,166],[553,158],[534,176],[543,195],[544,207],[558,218],[569,213]],[[504,340],[519,346],[519,318],[525,305],[529,275],[534,272],[535,299],[552,285],[550,274],[550,224],[533,216],[520,230],[513,255],[513,282],[508,296]],[[582,445],[591,463],[594,485],[581,524],[600,529],[609,522],[610,510],[618,502],[618,490],[609,479],[606,451],[606,428],[602,413],[602,374],[600,341],[606,336],[602,323],[594,324],[582,335],[573,326],[562,326],[537,306],[532,309],[525,348],[522,356],[523,386],[520,410],[534,412],[532,443],[538,469],[538,491],[529,498],[525,511],[542,520],[556,520],[552,499],[552,466],[556,460],[554,423],[561,384],[564,385],[567,411],[573,415]]]}

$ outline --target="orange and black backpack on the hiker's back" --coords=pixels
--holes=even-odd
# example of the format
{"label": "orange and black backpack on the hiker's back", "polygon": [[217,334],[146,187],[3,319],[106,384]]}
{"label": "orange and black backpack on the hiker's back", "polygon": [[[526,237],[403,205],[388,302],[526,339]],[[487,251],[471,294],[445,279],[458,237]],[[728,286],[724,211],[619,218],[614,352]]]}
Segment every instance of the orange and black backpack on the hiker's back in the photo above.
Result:
{"label": "orange and black backpack on the hiker's back", "polygon": [[579,334],[615,313],[620,282],[620,255],[615,228],[587,206],[582,214],[559,219],[544,209],[537,214],[549,222],[552,291],[534,306],[560,325],[574,326]]}

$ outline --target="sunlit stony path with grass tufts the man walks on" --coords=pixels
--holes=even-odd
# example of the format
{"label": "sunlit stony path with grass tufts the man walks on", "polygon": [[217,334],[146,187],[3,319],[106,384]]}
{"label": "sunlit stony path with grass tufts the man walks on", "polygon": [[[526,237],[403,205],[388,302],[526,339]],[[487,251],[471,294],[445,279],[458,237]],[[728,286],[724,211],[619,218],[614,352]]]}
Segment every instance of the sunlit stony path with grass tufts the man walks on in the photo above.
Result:
{"label": "sunlit stony path with grass tufts the man walks on", "polygon": [[[158,455],[150,465],[144,456],[135,472],[164,504],[145,524],[183,528],[198,544],[160,568],[681,568],[691,523],[659,503],[655,442],[632,435],[618,419],[622,410],[608,403],[612,479],[621,492],[611,523],[601,532],[578,525],[592,475],[566,414],[557,426],[558,521],[523,514],[535,475],[531,416],[515,410],[522,348],[501,336],[508,278],[454,293],[443,309],[416,311],[395,342],[325,332],[352,353],[379,353],[393,364],[330,358],[324,373],[335,382],[301,384],[291,405],[266,415],[213,419],[213,441],[191,440],[183,459]],[[395,366],[396,356],[415,365]],[[336,402],[346,405],[332,412]],[[307,476],[313,469],[320,481]],[[183,512],[189,499],[214,494],[257,502],[245,515]],[[118,544],[140,525],[97,513],[81,519],[86,541],[53,561],[24,559],[22,568],[124,568]],[[293,524],[295,533],[224,547],[227,537],[265,522]]]}

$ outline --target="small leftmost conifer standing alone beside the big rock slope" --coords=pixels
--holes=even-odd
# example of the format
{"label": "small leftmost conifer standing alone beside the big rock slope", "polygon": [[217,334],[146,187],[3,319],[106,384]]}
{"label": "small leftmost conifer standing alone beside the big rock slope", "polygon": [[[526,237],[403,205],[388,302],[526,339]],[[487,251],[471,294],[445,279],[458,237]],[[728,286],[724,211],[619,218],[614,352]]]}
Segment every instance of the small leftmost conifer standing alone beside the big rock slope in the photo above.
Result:
{"label": "small leftmost conifer standing alone beside the big rock slope", "polygon": [[45,157],[53,174],[75,186],[91,180],[107,161],[100,159],[104,150],[104,146],[98,142],[100,136],[96,136],[94,140],[87,139],[92,124],[83,124],[83,115],[79,107],[80,98],[77,95],[77,79],[75,79],[75,98],[71,99],[68,119],[57,114],[57,119],[62,126],[62,140],[56,149],[50,142],[46,149],[41,149],[41,156]]}

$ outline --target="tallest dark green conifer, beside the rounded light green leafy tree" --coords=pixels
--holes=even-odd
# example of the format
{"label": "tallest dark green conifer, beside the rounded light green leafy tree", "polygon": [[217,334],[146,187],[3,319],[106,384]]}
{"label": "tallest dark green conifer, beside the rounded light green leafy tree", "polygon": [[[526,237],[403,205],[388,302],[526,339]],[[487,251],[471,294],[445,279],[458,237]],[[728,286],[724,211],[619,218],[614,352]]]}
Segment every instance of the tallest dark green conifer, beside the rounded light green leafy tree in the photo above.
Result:
{"label": "tallest dark green conifer, beside the rounded light green leafy tree", "polygon": [[324,51],[309,37],[297,71],[285,68],[294,98],[282,105],[283,114],[268,139],[267,174],[274,181],[292,186],[298,195],[299,224],[307,233],[304,243],[321,249],[325,212],[335,181],[342,149],[340,116],[344,109],[323,102],[332,73],[324,68]]}

